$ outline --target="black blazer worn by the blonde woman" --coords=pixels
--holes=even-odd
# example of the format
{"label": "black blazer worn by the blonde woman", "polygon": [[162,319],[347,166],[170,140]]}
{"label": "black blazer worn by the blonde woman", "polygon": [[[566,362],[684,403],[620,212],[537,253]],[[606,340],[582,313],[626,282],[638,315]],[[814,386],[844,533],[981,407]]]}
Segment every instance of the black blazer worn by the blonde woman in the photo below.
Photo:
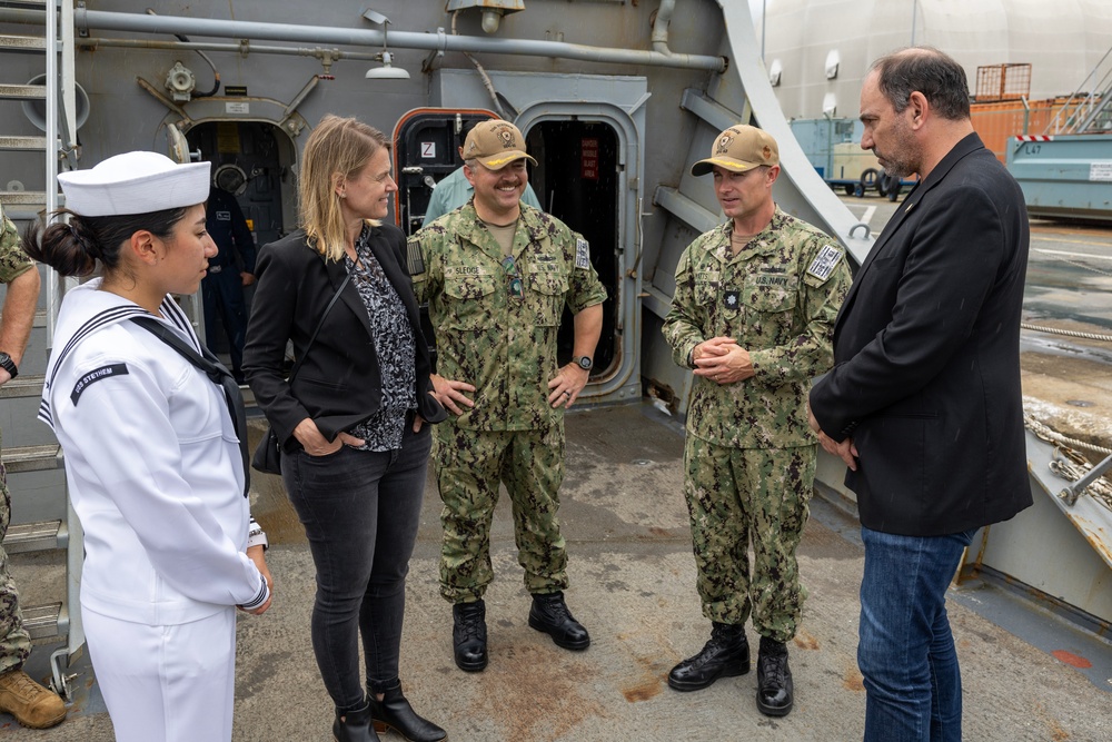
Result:
{"label": "black blazer worn by the blonde woman", "polygon": [[[429,392],[429,354],[405,266],[406,238],[394,225],[373,228],[370,249],[406,306],[417,343],[417,412],[429,423],[446,417]],[[354,281],[332,306],[312,347],[306,346],[325,307],[344,281],[344,263],[326,263],[297,230],[264,246],[256,267],[258,286],[244,347],[244,373],[255,398],[287,449],[299,444],[294,428],[306,417],[329,441],[366,421],[383,402],[378,356],[367,309]],[[305,356],[292,384],[285,379],[286,342]]]}

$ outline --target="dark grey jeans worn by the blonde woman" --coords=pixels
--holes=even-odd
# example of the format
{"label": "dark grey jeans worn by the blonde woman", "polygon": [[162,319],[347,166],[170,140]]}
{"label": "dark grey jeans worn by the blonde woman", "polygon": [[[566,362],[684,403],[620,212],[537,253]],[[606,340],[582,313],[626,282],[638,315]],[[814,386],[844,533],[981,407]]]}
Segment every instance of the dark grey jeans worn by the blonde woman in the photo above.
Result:
{"label": "dark grey jeans worn by the blonde woman", "polygon": [[282,453],[282,481],[317,567],[312,651],[341,712],[364,704],[360,635],[368,687],[381,693],[398,681],[406,574],[425,494],[429,427],[415,434],[407,422],[396,451],[342,446],[328,456]]}

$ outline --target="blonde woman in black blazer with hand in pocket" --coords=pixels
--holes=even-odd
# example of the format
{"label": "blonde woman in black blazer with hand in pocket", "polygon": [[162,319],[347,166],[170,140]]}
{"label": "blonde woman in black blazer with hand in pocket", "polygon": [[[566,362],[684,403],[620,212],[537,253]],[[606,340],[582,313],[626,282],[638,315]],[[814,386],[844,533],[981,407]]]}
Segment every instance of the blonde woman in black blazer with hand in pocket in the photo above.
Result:
{"label": "blonde woman in black blazer with hand in pocket", "polygon": [[[436,742],[447,734],[403,695],[398,655],[426,423],[445,412],[429,394],[405,236],[380,221],[397,191],[389,142],[356,119],[325,117],[306,142],[299,188],[304,228],[258,260],[244,372],[278,435],[317,568],[311,637],[336,705],[332,733],[366,742],[390,728]],[[289,382],[288,340],[300,362]]]}

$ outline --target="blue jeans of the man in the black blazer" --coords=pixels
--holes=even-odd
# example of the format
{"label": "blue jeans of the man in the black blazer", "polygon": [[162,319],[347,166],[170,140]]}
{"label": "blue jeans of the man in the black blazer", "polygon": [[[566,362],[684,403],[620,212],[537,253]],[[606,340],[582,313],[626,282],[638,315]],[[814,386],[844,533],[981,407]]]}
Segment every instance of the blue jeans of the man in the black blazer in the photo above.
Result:
{"label": "blue jeans of the man in the black blazer", "polygon": [[866,742],[962,739],[962,677],[946,588],[974,533],[898,536],[862,526],[857,665]]}

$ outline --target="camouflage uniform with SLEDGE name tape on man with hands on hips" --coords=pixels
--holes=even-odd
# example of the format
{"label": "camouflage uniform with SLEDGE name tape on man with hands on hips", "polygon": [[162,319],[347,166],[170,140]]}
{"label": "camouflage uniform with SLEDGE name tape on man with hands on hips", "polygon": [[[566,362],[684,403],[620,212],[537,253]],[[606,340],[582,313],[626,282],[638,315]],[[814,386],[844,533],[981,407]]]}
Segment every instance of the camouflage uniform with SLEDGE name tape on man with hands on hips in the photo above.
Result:
{"label": "camouflage uniform with SLEDGE name tape on man with hands on hips", "polygon": [[480,598],[494,578],[490,521],[499,481],[514,506],[518,561],[530,593],[567,587],[556,512],[564,478],[564,409],[548,404],[559,368],[564,306],[578,313],[606,289],[587,243],[562,221],[522,205],[513,256],[524,296],[509,293],[502,248],[468,204],[409,239],[414,289],[428,301],[437,373],[475,385],[475,407],[434,428],[433,469],[444,511],[440,593]]}

